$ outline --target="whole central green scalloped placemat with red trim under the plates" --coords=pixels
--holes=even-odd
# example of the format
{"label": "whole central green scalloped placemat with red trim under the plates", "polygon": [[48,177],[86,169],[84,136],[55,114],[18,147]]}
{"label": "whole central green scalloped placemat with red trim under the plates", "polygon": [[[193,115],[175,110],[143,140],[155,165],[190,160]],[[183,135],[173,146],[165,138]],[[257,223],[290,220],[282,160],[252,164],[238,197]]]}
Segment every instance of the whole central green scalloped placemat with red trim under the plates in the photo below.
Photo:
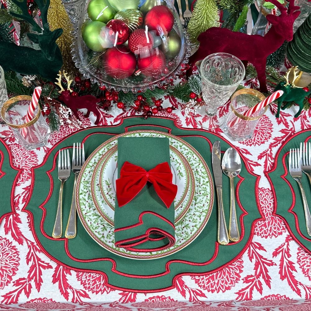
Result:
{"label": "whole central green scalloped placemat with red trim under the plates", "polygon": [[[115,134],[133,130],[160,130],[180,136],[202,155],[211,169],[211,146],[221,141],[225,151],[230,145],[216,134],[178,128],[169,118],[130,117],[119,126],[95,127],[81,130],[54,146],[43,164],[33,170],[33,193],[26,206],[26,212],[33,217],[32,230],[40,247],[52,259],[72,269],[94,271],[106,276],[107,285],[113,288],[140,292],[152,292],[174,287],[174,280],[182,274],[194,275],[215,271],[230,264],[248,247],[253,237],[255,220],[261,219],[256,202],[259,176],[250,174],[242,164],[240,178],[235,179],[237,187],[237,214],[242,220],[241,240],[228,246],[217,241],[216,200],[210,219],[202,233],[186,248],[164,258],[135,260],[120,257],[100,247],[77,220],[77,236],[74,239],[51,238],[58,202],[59,181],[56,160],[60,148],[71,147],[74,142],[84,141],[86,155]],[[73,174],[65,183],[63,193],[63,222],[67,223],[73,188]],[[53,187],[54,186],[54,187]],[[50,189],[51,188],[51,189]],[[44,191],[43,191],[44,190]],[[230,182],[223,177],[224,206],[227,225],[230,209]],[[48,197],[48,198],[47,198]],[[195,198],[194,198],[195,199]],[[202,207],[204,208],[204,207]],[[243,216],[242,216],[243,215]],[[42,220],[42,227],[40,223]],[[42,231],[41,231],[42,230]]]}

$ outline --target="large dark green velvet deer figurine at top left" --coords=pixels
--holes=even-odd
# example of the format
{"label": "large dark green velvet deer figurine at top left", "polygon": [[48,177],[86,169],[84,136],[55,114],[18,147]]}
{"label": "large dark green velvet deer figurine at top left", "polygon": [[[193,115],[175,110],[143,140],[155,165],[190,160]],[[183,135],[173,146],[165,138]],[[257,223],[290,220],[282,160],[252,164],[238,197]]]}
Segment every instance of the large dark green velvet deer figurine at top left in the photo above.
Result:
{"label": "large dark green velvet deer figurine at top left", "polygon": [[13,70],[25,75],[40,75],[54,82],[59,70],[63,66],[63,58],[56,44],[56,40],[62,35],[63,29],[54,31],[49,29],[47,21],[50,0],[35,0],[40,12],[43,29],[35,22],[28,13],[27,0],[22,2],[12,0],[20,9],[22,14],[10,12],[18,19],[28,22],[32,29],[38,34],[28,33],[28,38],[39,44],[40,50],[35,50],[26,46],[18,46],[14,43],[0,41],[0,66],[4,71]]}

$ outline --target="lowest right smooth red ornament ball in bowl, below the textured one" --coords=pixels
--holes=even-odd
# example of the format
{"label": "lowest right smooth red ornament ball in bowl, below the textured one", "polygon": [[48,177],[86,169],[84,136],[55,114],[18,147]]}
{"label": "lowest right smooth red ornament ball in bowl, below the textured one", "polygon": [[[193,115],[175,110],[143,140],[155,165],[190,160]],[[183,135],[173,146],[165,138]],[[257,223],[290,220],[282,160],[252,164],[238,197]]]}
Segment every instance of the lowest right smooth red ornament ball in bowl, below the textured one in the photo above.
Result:
{"label": "lowest right smooth red ornament ball in bowl, below the textured one", "polygon": [[148,57],[141,58],[138,56],[137,66],[147,77],[159,76],[165,68],[165,56],[160,50]]}

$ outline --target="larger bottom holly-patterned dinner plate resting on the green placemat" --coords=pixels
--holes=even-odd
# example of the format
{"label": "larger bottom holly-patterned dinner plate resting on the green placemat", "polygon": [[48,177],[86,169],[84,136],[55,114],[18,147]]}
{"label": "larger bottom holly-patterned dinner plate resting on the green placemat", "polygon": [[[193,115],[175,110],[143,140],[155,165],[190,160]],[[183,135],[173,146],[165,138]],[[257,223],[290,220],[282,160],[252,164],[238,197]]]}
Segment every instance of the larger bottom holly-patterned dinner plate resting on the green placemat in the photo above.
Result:
{"label": "larger bottom holly-patterned dinner plate resting on the green placemat", "polygon": [[[194,197],[182,219],[175,225],[175,244],[167,249],[155,252],[132,252],[114,246],[114,226],[99,213],[92,197],[92,178],[95,168],[103,155],[114,158],[114,147],[119,137],[168,137],[170,146],[174,147],[188,162],[194,176]],[[109,152],[110,151],[110,152]],[[108,153],[107,153],[108,152]],[[111,179],[113,180],[111,173]],[[190,174],[191,178],[191,174]],[[99,181],[100,183],[100,181]],[[190,187],[189,187],[190,188]],[[187,192],[188,195],[188,192]],[[185,198],[187,200],[187,196]],[[133,259],[154,259],[168,256],[183,249],[201,233],[211,215],[214,200],[214,188],[210,170],[200,154],[187,142],[174,135],[160,131],[126,132],[104,142],[93,151],[83,165],[77,180],[77,212],[82,225],[91,237],[108,251]],[[111,208],[110,208],[111,210]],[[178,215],[178,213],[176,213]]]}

